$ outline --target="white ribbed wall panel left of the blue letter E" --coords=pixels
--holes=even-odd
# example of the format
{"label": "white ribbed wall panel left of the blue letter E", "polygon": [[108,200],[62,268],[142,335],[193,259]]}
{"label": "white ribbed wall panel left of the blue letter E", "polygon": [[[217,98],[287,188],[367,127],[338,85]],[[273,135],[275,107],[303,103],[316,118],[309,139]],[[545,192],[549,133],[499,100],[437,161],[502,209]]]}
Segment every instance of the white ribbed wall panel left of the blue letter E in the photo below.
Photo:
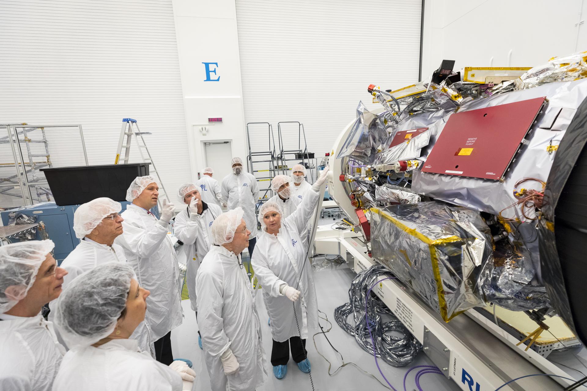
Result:
{"label": "white ribbed wall panel left of the blue letter E", "polygon": [[0,123],[82,124],[89,163],[113,164],[126,117],[173,194],[191,169],[171,0],[0,2]]}

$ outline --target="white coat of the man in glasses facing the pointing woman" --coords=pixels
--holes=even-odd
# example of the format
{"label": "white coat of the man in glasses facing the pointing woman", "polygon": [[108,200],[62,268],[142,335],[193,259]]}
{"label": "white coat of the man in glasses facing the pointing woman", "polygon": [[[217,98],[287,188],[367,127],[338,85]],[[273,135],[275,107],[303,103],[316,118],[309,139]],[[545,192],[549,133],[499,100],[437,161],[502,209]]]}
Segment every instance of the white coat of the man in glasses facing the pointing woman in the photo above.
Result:
{"label": "white coat of the man in glasses facing the pointing woman", "polygon": [[[198,269],[195,289],[212,391],[257,389],[267,377],[265,351],[254,292],[240,256],[212,246]],[[237,358],[239,370],[226,376],[220,356],[228,348]]]}

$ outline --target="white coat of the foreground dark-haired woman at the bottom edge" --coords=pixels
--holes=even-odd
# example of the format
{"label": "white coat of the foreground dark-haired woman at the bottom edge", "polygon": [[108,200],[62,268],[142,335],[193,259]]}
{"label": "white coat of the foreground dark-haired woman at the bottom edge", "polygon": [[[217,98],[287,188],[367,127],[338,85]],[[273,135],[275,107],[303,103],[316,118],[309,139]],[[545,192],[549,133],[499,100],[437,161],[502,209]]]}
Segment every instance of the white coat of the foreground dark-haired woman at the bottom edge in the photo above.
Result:
{"label": "white coat of the foreground dark-haired woman at the bottom edge", "polygon": [[97,348],[66,353],[53,391],[181,391],[175,370],[141,352],[134,339],[113,339]]}

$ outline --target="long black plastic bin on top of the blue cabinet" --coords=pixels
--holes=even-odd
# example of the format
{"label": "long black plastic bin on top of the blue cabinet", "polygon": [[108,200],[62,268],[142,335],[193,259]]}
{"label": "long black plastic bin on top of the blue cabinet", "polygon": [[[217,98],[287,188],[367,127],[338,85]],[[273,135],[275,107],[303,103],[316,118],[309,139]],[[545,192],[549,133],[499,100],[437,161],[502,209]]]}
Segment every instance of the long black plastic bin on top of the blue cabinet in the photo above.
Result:
{"label": "long black plastic bin on top of the blue cabinet", "polygon": [[95,198],[126,200],[137,176],[149,175],[150,163],[41,168],[57,205],[76,205]]}

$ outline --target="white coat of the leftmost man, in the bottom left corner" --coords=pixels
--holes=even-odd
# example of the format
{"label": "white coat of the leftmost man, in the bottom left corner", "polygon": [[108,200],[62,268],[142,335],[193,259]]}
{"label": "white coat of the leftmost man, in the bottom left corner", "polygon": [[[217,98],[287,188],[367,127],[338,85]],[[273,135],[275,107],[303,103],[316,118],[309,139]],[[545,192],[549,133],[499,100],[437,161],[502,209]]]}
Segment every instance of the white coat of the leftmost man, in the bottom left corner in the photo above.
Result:
{"label": "white coat of the leftmost man, in the bottom left corner", "polygon": [[49,391],[65,354],[52,323],[41,314],[0,319],[0,390]]}

